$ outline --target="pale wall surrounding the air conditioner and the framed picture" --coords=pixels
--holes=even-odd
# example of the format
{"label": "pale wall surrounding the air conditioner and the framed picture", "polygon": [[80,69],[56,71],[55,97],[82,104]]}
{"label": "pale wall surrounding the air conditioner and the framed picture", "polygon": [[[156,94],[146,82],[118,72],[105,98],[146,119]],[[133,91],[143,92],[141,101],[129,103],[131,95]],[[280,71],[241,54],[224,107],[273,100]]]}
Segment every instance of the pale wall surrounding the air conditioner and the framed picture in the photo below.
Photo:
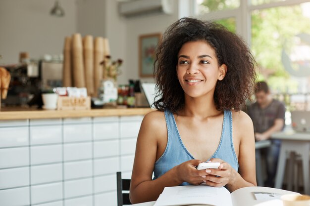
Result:
{"label": "pale wall surrounding the air conditioner and the framed picture", "polygon": [[128,83],[129,79],[142,82],[154,82],[153,78],[139,77],[138,40],[140,35],[162,33],[166,27],[178,19],[178,0],[173,0],[173,14],[150,14],[146,16],[125,18],[118,14],[116,0],[105,1],[105,37],[110,43],[112,59],[121,58],[122,74],[119,84]]}

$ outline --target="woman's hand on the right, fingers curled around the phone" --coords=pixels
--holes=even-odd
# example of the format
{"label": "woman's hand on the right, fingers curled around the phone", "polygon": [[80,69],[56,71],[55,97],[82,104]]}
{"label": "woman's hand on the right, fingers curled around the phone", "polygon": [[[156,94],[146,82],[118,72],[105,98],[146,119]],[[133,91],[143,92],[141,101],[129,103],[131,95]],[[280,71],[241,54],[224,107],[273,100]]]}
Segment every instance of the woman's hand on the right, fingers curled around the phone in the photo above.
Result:
{"label": "woman's hand on the right, fingers curled around the phone", "polygon": [[204,178],[206,184],[212,187],[223,187],[227,184],[231,184],[235,179],[237,171],[221,159],[212,158],[207,163],[216,162],[220,163],[218,169],[206,169],[206,172],[208,173]]}

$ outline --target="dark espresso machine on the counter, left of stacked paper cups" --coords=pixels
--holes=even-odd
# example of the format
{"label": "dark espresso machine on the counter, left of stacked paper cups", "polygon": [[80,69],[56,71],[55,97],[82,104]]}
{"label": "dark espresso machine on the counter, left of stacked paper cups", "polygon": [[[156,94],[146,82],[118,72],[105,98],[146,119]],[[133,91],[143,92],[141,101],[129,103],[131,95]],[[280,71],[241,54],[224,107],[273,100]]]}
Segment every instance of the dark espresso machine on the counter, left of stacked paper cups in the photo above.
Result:
{"label": "dark espresso machine on the counter, left of stacked paper cups", "polygon": [[62,62],[30,61],[4,66],[11,74],[2,107],[42,107],[42,89],[62,86]]}

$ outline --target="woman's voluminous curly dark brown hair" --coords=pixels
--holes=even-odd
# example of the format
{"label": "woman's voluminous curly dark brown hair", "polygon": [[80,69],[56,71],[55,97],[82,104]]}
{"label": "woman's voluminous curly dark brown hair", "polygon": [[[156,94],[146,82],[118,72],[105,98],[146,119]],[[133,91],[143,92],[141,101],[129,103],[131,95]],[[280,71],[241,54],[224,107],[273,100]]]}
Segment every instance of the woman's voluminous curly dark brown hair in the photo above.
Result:
{"label": "woman's voluminous curly dark brown hair", "polygon": [[155,108],[175,113],[185,104],[184,91],[177,79],[178,52],[189,41],[206,41],[214,48],[219,66],[225,64],[227,73],[217,81],[214,103],[217,110],[240,110],[250,98],[256,80],[255,59],[247,44],[238,35],[212,21],[181,18],[163,33],[156,49],[154,74],[156,83]]}

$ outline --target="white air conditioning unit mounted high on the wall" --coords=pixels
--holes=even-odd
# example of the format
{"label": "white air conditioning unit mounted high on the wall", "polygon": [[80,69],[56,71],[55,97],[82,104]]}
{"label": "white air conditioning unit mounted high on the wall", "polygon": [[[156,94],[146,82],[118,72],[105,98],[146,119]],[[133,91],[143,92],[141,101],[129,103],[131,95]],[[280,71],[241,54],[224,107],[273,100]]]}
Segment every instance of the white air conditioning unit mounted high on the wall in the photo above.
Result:
{"label": "white air conditioning unit mounted high on the wall", "polygon": [[119,2],[119,13],[125,17],[148,15],[151,13],[172,13],[172,0],[131,0]]}

